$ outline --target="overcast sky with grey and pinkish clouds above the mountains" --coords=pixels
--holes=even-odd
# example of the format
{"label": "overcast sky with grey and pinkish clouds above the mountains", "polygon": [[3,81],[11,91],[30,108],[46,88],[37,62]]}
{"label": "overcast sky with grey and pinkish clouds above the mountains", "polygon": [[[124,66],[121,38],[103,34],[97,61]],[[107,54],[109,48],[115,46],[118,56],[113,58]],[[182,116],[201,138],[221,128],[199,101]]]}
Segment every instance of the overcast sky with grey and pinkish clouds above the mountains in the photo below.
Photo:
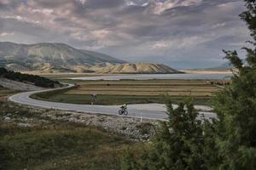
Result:
{"label": "overcast sky with grey and pinkish clouds above the mountains", "polygon": [[64,42],[130,62],[204,68],[248,40],[242,0],[0,0],[0,41]]}

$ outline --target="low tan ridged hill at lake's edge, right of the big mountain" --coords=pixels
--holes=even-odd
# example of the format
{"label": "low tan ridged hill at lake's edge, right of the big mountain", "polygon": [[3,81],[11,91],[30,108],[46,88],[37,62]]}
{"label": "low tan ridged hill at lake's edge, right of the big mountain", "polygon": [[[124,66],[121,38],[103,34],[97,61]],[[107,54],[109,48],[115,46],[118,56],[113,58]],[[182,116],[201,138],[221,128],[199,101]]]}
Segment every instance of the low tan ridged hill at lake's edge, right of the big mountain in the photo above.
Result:
{"label": "low tan ridged hill at lake's edge, right of the big mountain", "polygon": [[167,65],[151,64],[151,63],[109,65],[103,68],[95,68],[95,71],[102,72],[102,73],[149,73],[149,74],[180,72],[172,69]]}

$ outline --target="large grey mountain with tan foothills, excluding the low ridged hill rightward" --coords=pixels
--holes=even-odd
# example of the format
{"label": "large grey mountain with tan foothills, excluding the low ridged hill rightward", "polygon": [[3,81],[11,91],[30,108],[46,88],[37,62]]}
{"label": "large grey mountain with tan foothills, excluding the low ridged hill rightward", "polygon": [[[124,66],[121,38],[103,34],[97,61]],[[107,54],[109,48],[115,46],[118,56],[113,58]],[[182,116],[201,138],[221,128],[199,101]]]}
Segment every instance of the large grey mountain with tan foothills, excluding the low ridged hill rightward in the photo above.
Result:
{"label": "large grey mountain with tan foothills, excluding the low ridged hill rightward", "polygon": [[124,63],[106,54],[80,50],[64,43],[0,42],[0,67],[13,71],[90,72],[91,66]]}

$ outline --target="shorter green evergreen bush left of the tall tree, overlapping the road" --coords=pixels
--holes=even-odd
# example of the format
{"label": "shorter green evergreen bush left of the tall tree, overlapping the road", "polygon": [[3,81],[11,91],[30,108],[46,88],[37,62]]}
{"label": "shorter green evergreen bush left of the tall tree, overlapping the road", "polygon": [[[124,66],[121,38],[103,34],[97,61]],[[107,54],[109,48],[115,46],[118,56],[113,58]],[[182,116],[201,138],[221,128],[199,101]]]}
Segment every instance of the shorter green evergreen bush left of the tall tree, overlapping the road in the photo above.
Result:
{"label": "shorter green evergreen bush left of the tall tree, overlapping the road", "polygon": [[177,109],[172,107],[171,100],[166,105],[169,121],[161,123],[153,144],[149,150],[142,150],[138,159],[128,153],[123,169],[207,169],[203,123],[196,119],[198,113],[192,101],[180,103]]}

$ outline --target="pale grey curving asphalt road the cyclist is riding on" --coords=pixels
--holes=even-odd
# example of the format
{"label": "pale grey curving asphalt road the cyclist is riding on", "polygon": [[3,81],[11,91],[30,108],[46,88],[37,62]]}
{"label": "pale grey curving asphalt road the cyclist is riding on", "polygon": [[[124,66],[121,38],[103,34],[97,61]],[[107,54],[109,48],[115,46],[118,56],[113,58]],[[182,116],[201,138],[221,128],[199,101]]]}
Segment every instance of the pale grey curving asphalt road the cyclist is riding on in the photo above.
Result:
{"label": "pale grey curving asphalt road the cyclist is riding on", "polygon": [[[71,88],[73,85],[68,85],[66,88]],[[58,88],[62,89],[62,88]],[[53,91],[56,89],[47,89],[40,91],[24,92],[20,94],[15,94],[9,97],[10,101],[21,105],[32,105],[39,106],[48,109],[57,109],[63,111],[79,111],[84,113],[95,113],[103,115],[114,115],[117,116],[119,111],[119,105],[75,105],[66,103],[57,103],[42,101],[38,99],[32,99],[30,96],[32,94],[38,94],[47,91]],[[177,105],[174,105],[177,107]],[[211,108],[204,105],[195,105],[195,108],[200,110],[199,119],[210,119],[216,118],[216,114],[211,112]],[[143,119],[155,119],[160,121],[166,121],[166,106],[161,104],[138,104],[138,105],[128,105],[129,115],[128,117],[136,117]]]}

